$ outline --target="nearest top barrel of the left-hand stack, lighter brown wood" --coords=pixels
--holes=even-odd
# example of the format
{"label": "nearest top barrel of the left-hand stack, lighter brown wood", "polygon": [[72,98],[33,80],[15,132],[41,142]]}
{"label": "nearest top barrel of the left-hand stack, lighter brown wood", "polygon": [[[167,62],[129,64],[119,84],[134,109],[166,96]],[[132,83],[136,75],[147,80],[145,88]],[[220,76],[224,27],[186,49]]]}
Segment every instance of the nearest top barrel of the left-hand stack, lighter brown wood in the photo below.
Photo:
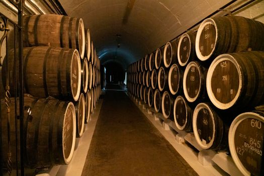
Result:
{"label": "nearest top barrel of the left-hand stack, lighter brown wood", "polygon": [[81,18],[55,14],[23,16],[24,46],[53,46],[77,49],[82,59],[85,50]]}

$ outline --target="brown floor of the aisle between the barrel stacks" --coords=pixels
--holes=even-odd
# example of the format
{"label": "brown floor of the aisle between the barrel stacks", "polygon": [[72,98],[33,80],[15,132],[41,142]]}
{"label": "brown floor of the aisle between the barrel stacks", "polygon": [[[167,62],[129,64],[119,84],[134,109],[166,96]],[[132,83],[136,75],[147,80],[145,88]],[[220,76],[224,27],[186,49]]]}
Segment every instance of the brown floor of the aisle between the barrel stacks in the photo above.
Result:
{"label": "brown floor of the aisle between the barrel stacks", "polygon": [[82,175],[197,173],[124,92],[106,91]]}

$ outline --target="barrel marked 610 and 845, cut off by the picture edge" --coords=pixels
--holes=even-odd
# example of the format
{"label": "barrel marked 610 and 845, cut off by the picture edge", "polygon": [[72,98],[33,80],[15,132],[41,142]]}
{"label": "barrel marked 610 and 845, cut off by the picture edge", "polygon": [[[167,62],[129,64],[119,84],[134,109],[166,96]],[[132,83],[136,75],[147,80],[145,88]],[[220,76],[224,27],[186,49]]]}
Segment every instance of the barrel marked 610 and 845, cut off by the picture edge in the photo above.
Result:
{"label": "barrel marked 610 and 845, cut off by the picture edge", "polygon": [[264,175],[264,111],[246,112],[232,122],[229,149],[234,163],[244,175]]}

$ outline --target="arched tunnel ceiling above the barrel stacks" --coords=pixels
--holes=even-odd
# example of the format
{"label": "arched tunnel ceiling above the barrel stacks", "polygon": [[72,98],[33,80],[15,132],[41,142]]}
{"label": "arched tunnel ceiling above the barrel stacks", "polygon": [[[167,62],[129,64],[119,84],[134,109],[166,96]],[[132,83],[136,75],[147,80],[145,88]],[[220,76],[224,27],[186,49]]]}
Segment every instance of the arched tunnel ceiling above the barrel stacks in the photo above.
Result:
{"label": "arched tunnel ceiling above the barrel stacks", "polygon": [[[83,19],[101,63],[128,64],[220,9],[230,0],[59,0]],[[120,44],[120,48],[118,48]]]}

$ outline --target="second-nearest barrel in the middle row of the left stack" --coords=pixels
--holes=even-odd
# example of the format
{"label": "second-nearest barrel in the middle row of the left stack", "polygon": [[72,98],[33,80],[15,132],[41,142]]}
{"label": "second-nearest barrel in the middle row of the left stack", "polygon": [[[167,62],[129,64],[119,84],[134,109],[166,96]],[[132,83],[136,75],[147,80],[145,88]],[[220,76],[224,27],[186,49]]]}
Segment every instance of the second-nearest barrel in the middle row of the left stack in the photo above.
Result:
{"label": "second-nearest barrel in the middle row of the left stack", "polygon": [[87,58],[85,57],[81,62],[81,91],[86,93],[89,83],[89,65]]}

